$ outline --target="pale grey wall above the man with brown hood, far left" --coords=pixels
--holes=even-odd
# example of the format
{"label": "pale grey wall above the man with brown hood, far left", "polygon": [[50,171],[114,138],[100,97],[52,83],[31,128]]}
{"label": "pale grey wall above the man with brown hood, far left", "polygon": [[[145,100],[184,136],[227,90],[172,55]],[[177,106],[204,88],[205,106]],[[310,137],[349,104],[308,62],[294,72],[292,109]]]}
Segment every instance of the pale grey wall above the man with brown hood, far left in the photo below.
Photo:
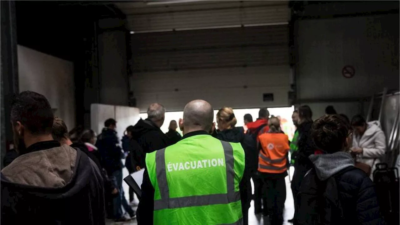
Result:
{"label": "pale grey wall above the man with brown hood, far left", "polygon": [[18,45],[20,92],[43,94],[68,129],[75,127],[74,64]]}

